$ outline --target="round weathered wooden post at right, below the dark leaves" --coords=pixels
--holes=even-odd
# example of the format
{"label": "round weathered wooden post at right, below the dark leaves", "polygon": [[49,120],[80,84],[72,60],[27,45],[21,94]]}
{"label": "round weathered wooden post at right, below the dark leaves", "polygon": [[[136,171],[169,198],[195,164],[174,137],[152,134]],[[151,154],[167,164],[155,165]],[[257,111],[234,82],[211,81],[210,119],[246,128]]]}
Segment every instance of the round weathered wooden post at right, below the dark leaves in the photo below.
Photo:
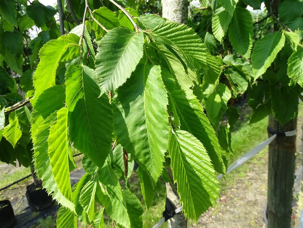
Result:
{"label": "round weathered wooden post at right, below the dark leaves", "polygon": [[[268,127],[278,132],[293,131],[297,118],[281,126],[272,114]],[[271,134],[270,134],[271,136]],[[277,136],[269,145],[267,219],[268,227],[291,226],[291,202],[295,172],[296,136]]]}

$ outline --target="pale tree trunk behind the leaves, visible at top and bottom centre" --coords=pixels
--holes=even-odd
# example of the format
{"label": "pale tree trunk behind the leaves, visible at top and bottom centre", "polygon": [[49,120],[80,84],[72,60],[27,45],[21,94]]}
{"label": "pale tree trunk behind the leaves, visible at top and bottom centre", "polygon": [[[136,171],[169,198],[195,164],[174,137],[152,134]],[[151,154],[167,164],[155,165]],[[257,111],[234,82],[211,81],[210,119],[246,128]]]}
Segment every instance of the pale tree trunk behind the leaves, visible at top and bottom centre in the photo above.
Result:
{"label": "pale tree trunk behind the leaves, visible at top and bottom centre", "polygon": [[[172,22],[178,22],[179,24],[187,24],[188,18],[188,0],[162,0],[162,17],[171,20]],[[171,169],[167,169],[168,175],[172,179]],[[170,183],[166,183],[166,194],[168,200],[173,205],[174,209],[180,207],[180,198],[175,191],[177,185],[174,187]],[[168,228],[186,228],[187,219],[185,219],[183,213],[175,214],[171,219],[168,219]]]}

